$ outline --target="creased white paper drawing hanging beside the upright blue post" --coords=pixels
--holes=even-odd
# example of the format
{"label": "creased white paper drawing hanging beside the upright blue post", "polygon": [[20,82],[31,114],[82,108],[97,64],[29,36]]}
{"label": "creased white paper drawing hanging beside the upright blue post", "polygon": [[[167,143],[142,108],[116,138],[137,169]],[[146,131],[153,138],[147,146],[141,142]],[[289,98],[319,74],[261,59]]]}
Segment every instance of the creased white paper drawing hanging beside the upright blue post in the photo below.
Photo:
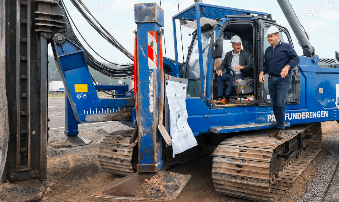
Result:
{"label": "creased white paper drawing hanging beside the upright blue post", "polygon": [[169,107],[169,134],[172,138],[173,157],[197,146],[193,132],[187,123],[186,84],[166,81],[166,97]]}

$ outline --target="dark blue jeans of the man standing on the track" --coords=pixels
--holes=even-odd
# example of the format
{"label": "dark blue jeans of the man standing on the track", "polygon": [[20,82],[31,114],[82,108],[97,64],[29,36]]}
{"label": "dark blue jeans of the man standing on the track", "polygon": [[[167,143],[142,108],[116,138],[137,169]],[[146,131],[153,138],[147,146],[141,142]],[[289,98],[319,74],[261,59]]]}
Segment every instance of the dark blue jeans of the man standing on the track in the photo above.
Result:
{"label": "dark blue jeans of the man standing on the track", "polygon": [[288,90],[291,88],[292,76],[287,75],[285,78],[281,76],[268,77],[268,90],[273,107],[273,113],[277,121],[277,128],[285,129],[285,100]]}

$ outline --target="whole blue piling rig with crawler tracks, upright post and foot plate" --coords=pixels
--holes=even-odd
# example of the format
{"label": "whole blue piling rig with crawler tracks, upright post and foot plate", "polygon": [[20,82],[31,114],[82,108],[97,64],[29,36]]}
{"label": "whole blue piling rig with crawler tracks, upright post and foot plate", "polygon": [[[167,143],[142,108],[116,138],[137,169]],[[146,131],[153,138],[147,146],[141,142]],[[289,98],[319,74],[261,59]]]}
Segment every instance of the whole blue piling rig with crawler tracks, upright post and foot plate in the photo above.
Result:
{"label": "whole blue piling rig with crawler tracks, upright post and foot plate", "polygon": [[[288,1],[278,0],[278,2],[284,13],[293,14],[293,10],[284,9],[288,7]],[[30,1],[28,1],[27,8],[30,9],[29,3]],[[202,17],[212,20],[212,23],[202,23]],[[292,44],[288,30],[276,24],[275,20],[271,19],[271,16],[267,13],[203,3],[196,3],[186,8],[173,16],[172,20],[175,62],[164,58],[164,65],[167,68],[165,72],[176,78],[183,77],[182,79],[188,80],[187,122],[194,135],[207,134],[214,137],[222,133],[241,132],[241,135],[229,138],[213,148],[215,152],[212,178],[216,190],[221,194],[255,201],[277,201],[281,193],[284,193],[282,190],[285,190],[280,186],[288,187],[291,185],[291,182],[284,179],[296,178],[295,173],[288,174],[288,170],[291,170],[288,169],[289,166],[305,167],[307,161],[319,151],[321,145],[320,122],[339,119],[339,84],[337,82],[339,54],[337,53],[336,59],[331,59],[332,62],[327,64],[314,53],[314,48],[306,39],[304,30],[301,30],[302,27],[293,26],[294,32],[299,31],[296,36],[305,56],[300,56],[300,63],[292,69],[293,84],[286,100],[287,123],[285,125],[288,134],[284,140],[278,141],[275,138],[268,137],[273,132],[272,128],[275,127],[275,119],[269,91],[265,84],[258,82],[258,75],[263,66],[263,54],[267,45],[264,38],[265,29],[272,25],[277,26],[281,33],[285,33],[286,42]],[[192,43],[183,67],[179,65],[178,61],[176,20],[182,21],[182,24],[185,24],[186,21],[192,21],[191,23],[195,24],[196,27],[196,30],[192,33]],[[288,20],[290,24],[297,22],[296,18]],[[155,175],[162,179],[164,186],[166,180],[180,179],[176,178],[177,174],[163,172],[165,161],[163,159],[165,158],[162,145],[164,142],[157,127],[162,124],[159,123],[159,110],[161,110],[159,100],[162,92],[160,81],[163,79],[163,75],[159,71],[161,66],[159,39],[161,37],[160,30],[164,24],[163,10],[155,3],[136,4],[135,22],[138,27],[136,55],[138,91],[136,91],[135,98],[122,96],[112,99],[99,99],[96,92],[97,86],[93,84],[88,71],[84,50],[63,34],[57,33],[54,35],[52,47],[66,92],[67,123],[65,134],[77,135],[78,123],[97,121],[119,120],[121,123],[135,128],[135,130],[130,131],[116,131],[103,140],[98,155],[102,168],[117,175],[127,176],[115,181],[95,195],[120,199],[170,200],[180,193],[180,188],[165,187],[167,189],[165,193],[175,194],[171,196],[164,194],[162,198],[147,194],[144,190],[138,188],[140,183]],[[49,35],[53,33],[47,32]],[[244,50],[250,50],[248,45],[253,47],[253,78],[249,79],[253,82],[253,100],[245,103],[240,101],[235,104],[217,105],[213,102],[213,91],[215,89],[213,72],[217,58],[212,58],[211,47],[214,47],[212,46],[214,44],[213,38],[219,38],[227,44],[227,40],[230,39],[232,34],[244,34],[242,36]],[[47,45],[46,39],[42,39],[42,36],[40,38],[41,43]],[[17,41],[19,41],[19,38],[17,38]],[[21,44],[24,44],[22,42],[25,42],[25,40],[20,41]],[[196,58],[194,58],[194,54],[196,54]],[[43,53],[41,53],[42,55]],[[20,56],[18,58],[24,61],[25,58],[28,58],[28,54],[27,57]],[[322,64],[320,64],[321,62]],[[179,71],[180,67],[182,69]],[[43,72],[41,72],[41,75],[44,75]],[[29,78],[30,76],[21,75],[17,72],[17,79],[23,80],[26,77]],[[15,81],[15,79],[7,79],[8,83],[11,80]],[[10,84],[6,85],[10,86]],[[101,86],[101,88],[120,90],[121,93],[128,90],[128,86]],[[246,93],[242,95],[244,94]],[[3,96],[3,93],[1,95]],[[15,97],[13,95],[12,92],[7,92],[7,97]],[[26,93],[22,93],[22,96],[25,97]],[[40,99],[43,98],[44,96],[41,95]],[[135,107],[135,100],[138,108]],[[18,111],[21,113],[21,117],[30,114],[30,112],[21,112],[19,108]],[[42,112],[45,113],[46,111],[42,110]],[[44,116],[47,116],[47,113]],[[15,120],[12,115],[11,117],[10,121]],[[29,116],[27,117],[29,118]],[[46,132],[45,125],[42,119],[41,143],[46,143],[46,138],[43,136],[44,131]],[[12,126],[12,128],[14,127]],[[251,131],[251,133],[246,133],[246,131]],[[21,133],[27,133],[27,139],[31,138],[28,135],[30,134],[29,129],[17,130],[18,135],[21,135]],[[13,140],[15,140],[17,134],[15,134],[15,137],[12,136]],[[132,139],[131,136],[134,134],[138,136],[137,141],[129,143],[128,141]],[[10,156],[14,156],[15,153],[24,156],[26,152],[24,147],[18,149],[19,153],[13,151],[13,148],[15,148],[13,140],[9,141],[9,145],[14,146],[8,146]],[[37,142],[40,141],[32,141],[31,143],[36,144]],[[29,146],[28,143],[27,146]],[[33,147],[38,148],[37,146]],[[45,155],[44,148],[41,149],[43,155]],[[27,151],[30,157],[30,150],[27,149]],[[15,160],[14,157],[9,159]],[[29,171],[29,158],[27,158],[27,168],[17,169],[17,171],[15,168],[20,168],[23,163],[20,164],[19,159],[16,160],[17,163],[15,161],[7,163],[7,167],[13,169],[7,169],[11,171],[6,173],[6,179],[16,181],[37,177],[37,172]],[[294,160],[298,162],[293,162]],[[3,161],[1,159],[1,163]],[[46,157],[41,157],[41,163],[46,164]],[[41,168],[44,169],[41,170],[40,176],[44,178],[46,168],[43,166]],[[165,175],[167,178],[164,178]],[[179,186],[182,188],[188,181],[189,176],[181,177],[185,178]],[[120,187],[118,184],[120,184]],[[131,188],[126,196],[121,197],[123,195],[121,192],[126,194],[126,187],[132,187],[131,184],[136,186]],[[279,189],[280,191],[277,191]],[[157,191],[160,193],[160,190]]]}

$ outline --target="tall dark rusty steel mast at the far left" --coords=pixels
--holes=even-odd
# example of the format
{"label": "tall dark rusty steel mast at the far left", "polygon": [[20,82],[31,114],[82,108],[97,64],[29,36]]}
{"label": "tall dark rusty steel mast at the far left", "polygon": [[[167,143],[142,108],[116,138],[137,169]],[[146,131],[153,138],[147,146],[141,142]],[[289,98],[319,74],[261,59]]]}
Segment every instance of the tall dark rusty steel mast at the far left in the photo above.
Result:
{"label": "tall dark rusty steel mast at the far left", "polygon": [[35,1],[5,2],[6,93],[11,102],[8,103],[9,141],[2,180],[45,179],[47,43],[31,30]]}

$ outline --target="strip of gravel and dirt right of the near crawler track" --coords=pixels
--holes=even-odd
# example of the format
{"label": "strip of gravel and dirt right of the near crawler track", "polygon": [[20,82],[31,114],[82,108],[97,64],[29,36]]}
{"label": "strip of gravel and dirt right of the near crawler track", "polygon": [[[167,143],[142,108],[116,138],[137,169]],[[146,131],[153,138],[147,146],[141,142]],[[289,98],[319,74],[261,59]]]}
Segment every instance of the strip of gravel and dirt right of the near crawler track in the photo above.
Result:
{"label": "strip of gravel and dirt right of the near crawler track", "polygon": [[279,202],[321,202],[323,200],[339,161],[339,124],[330,121],[322,122],[321,126],[322,144],[319,154]]}

